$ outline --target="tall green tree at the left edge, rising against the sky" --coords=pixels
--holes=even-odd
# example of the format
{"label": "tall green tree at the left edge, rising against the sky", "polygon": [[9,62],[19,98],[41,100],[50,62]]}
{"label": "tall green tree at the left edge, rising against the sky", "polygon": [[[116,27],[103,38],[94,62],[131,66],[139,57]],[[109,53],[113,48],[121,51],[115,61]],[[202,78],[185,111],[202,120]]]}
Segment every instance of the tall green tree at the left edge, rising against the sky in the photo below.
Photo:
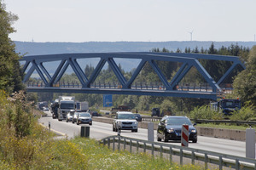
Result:
{"label": "tall green tree at the left edge, rising against the sky", "polygon": [[19,54],[15,53],[15,43],[9,38],[14,33],[12,24],[18,20],[15,14],[6,12],[5,4],[0,0],[0,89],[8,93],[23,89]]}

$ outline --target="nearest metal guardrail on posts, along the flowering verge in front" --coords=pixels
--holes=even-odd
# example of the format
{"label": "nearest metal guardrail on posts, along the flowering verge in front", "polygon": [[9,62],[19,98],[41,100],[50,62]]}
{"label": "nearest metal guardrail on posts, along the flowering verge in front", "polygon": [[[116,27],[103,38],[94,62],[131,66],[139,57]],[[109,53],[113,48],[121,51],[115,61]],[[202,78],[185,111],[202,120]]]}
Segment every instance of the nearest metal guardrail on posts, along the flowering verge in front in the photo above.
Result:
{"label": "nearest metal guardrail on posts, along the flowering verge in front", "polygon": [[235,169],[256,169],[256,160],[240,157],[220,154],[217,152],[207,150],[197,150],[189,147],[177,146],[173,144],[161,144],[157,142],[151,142],[142,139],[132,139],[123,136],[109,136],[100,141],[102,144],[108,144],[108,148],[111,147],[113,150],[121,150],[121,144],[123,150],[136,150],[138,153],[139,149],[143,150],[144,153],[151,152],[154,157],[155,153],[168,155],[169,160],[172,161],[172,156],[179,156],[179,163],[183,165],[183,159],[189,158],[191,164],[195,165],[195,161],[203,161],[205,168],[208,168],[208,163],[217,165],[219,169],[223,167],[230,167]]}

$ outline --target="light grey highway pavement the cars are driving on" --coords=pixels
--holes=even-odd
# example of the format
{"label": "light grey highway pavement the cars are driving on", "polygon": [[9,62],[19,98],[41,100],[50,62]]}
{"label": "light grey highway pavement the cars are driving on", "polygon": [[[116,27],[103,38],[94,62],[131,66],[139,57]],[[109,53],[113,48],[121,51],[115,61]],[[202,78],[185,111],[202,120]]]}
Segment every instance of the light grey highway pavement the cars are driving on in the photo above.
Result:
{"label": "light grey highway pavement the cars are driving on", "polygon": [[[75,136],[79,136],[81,125],[73,124],[72,122],[59,122],[57,119],[52,119],[51,113],[46,112],[48,116],[43,116],[39,119],[40,123],[43,123],[45,127],[49,126],[52,130],[67,135],[68,139],[72,139]],[[89,126],[89,125],[88,125]],[[90,138],[103,139],[105,137],[116,135],[116,132],[112,130],[112,124],[102,122],[92,122],[90,126]],[[136,138],[136,139],[148,139],[148,129],[139,128],[137,133],[131,133],[131,131],[122,131],[121,136]],[[156,131],[154,131],[154,141],[156,142]],[[169,141],[166,144],[180,145],[179,141]],[[197,143],[189,143],[189,147],[209,150],[222,154],[232,156],[246,156],[246,144],[245,142],[229,140],[229,139],[216,139],[198,136]]]}

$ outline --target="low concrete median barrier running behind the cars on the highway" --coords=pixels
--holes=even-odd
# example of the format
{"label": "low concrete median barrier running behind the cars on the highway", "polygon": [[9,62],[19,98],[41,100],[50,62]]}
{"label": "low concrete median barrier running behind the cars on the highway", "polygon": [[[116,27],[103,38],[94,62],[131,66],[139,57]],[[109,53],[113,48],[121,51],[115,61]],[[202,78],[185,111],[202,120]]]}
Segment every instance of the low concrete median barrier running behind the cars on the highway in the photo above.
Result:
{"label": "low concrete median barrier running behind the cars on the highway", "polygon": [[[105,122],[112,124],[113,118],[108,117],[92,117],[93,121],[96,122]],[[154,130],[157,129],[158,122],[154,122]],[[139,128],[148,128],[148,122],[138,122]],[[222,128],[212,128],[212,127],[196,127],[197,135],[207,136],[219,139],[232,139],[245,141],[246,140],[246,131],[245,130],[233,130],[233,129],[222,129]]]}

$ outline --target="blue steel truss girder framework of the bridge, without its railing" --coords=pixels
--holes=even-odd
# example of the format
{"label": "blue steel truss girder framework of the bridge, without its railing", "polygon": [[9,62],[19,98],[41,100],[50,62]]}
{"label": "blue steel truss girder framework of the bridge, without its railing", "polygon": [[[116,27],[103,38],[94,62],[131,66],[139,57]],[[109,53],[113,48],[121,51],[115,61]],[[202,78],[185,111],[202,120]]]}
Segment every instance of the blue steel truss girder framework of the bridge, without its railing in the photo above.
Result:
{"label": "blue steel truss girder framework of the bridge, without its railing", "polygon": [[[77,62],[77,59],[87,59],[87,58],[100,58],[99,63],[96,65],[95,70],[92,72],[90,78],[86,77],[84,71],[81,69],[80,65]],[[139,65],[137,65],[136,71],[134,71],[130,80],[126,80],[124,75],[119,69],[119,66],[114,61],[115,58],[121,59],[141,59]],[[208,74],[205,68],[201,65],[198,59],[214,59],[214,60],[225,60],[232,61],[233,65],[230,66],[230,69],[226,71],[219,79],[218,82],[215,82],[212,77]],[[34,55],[26,56],[23,59],[26,61],[23,72],[27,70],[28,65],[31,63],[31,68],[26,72],[26,76],[23,79],[23,82],[27,82],[31,77],[33,71],[37,71],[39,77],[43,80],[45,88],[27,88],[28,91],[53,91],[53,92],[72,92],[73,93],[92,93],[92,94],[133,94],[133,95],[159,95],[159,96],[175,96],[175,97],[189,97],[189,98],[204,98],[204,99],[217,99],[217,94],[222,92],[222,89],[219,88],[219,84],[228,77],[236,67],[236,65],[241,65],[242,68],[245,68],[245,65],[241,63],[238,57],[235,56],[223,56],[223,55],[209,55],[209,54],[173,54],[173,53],[98,53],[98,54],[49,54],[49,55]],[[183,65],[179,68],[176,75],[172,77],[171,82],[168,82],[163,72],[160,70],[159,66],[155,62],[156,60],[162,61],[172,61],[180,62]],[[49,61],[61,61],[60,65],[57,66],[57,69],[53,76],[49,75],[49,72],[45,69],[44,63]],[[103,66],[108,62],[108,65],[112,69],[113,73],[119,80],[119,83],[122,85],[121,89],[98,89],[90,88],[90,84],[96,80],[96,77],[99,76],[99,73],[102,71]],[[154,90],[135,90],[131,89],[131,84],[135,81],[136,77],[142,71],[143,66],[148,62],[149,65],[153,68],[154,72],[160,78],[160,81],[166,87],[164,93],[162,91]],[[61,80],[61,77],[67,70],[68,66],[71,66],[76,76],[79,78],[79,82],[82,84],[82,88],[77,89],[64,89],[64,88],[54,88],[53,85],[56,82]],[[176,86],[183,77],[189,72],[192,67],[195,67],[197,71],[205,78],[207,83],[212,87],[212,93],[203,93],[203,92],[177,92]]]}

